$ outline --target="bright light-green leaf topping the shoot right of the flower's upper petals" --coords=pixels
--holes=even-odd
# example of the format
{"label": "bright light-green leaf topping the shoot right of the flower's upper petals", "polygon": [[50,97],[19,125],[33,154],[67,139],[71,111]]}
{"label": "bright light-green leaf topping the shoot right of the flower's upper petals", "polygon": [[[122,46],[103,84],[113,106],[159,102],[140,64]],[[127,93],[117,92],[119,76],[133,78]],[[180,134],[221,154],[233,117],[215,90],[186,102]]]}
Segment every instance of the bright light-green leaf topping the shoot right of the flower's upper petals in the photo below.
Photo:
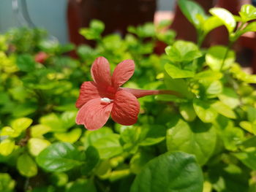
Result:
{"label": "bright light-green leaf topping the shoot right of the flower's upper petals", "polygon": [[193,61],[195,58],[202,56],[197,45],[193,42],[185,42],[182,40],[178,40],[172,46],[166,47],[165,53],[170,57],[170,60],[174,62]]}

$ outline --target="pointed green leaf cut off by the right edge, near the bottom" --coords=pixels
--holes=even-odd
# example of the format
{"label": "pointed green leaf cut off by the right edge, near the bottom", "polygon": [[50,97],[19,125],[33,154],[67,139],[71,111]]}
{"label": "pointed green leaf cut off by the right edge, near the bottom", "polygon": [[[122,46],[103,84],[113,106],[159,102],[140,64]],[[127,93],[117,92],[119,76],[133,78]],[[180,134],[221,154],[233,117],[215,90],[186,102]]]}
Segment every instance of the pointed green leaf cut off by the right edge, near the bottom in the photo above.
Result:
{"label": "pointed green leaf cut off by the right edge, near the bottom", "polygon": [[249,169],[256,170],[256,150],[255,148],[248,148],[240,153],[233,153],[243,164]]}

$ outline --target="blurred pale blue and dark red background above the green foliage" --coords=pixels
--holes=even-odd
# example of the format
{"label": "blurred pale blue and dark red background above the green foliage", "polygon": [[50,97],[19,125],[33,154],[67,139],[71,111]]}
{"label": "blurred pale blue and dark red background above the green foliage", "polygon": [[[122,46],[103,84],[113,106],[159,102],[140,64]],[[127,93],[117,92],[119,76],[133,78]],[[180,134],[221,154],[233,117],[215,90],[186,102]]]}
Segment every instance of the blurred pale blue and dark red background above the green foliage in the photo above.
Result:
{"label": "blurred pale blue and dark red background above the green foliage", "polygon": [[[255,0],[197,0],[206,11],[211,7],[223,7],[237,15],[242,4],[255,4]],[[15,6],[18,9],[15,11]],[[24,8],[25,7],[25,8]],[[25,15],[25,20],[22,19]],[[31,23],[26,23],[29,15]],[[21,19],[20,19],[21,18]],[[82,27],[88,27],[92,19],[105,23],[105,34],[118,33],[124,36],[127,26],[138,26],[146,22],[158,23],[159,20],[172,20],[172,28],[177,39],[194,41],[195,28],[184,18],[176,6],[175,0],[1,0],[0,32],[17,26],[37,26],[45,28],[52,37],[65,44],[89,44],[79,33]],[[203,46],[227,45],[227,31],[219,27],[208,34]],[[159,45],[159,53],[165,45]],[[235,45],[238,62],[252,66],[256,72],[256,36],[245,34]]]}

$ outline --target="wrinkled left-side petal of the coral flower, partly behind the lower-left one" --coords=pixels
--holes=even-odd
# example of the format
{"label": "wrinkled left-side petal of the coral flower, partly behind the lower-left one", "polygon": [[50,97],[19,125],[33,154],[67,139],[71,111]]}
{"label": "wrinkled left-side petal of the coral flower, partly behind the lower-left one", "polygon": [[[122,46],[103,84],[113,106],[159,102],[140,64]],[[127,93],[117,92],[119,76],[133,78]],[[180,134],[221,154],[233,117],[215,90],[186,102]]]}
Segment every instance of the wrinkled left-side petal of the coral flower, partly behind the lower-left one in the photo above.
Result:
{"label": "wrinkled left-side petal of the coral flower, partly behind the lower-left one", "polygon": [[80,94],[75,103],[75,107],[80,108],[91,99],[100,98],[99,91],[93,81],[86,81],[80,87]]}

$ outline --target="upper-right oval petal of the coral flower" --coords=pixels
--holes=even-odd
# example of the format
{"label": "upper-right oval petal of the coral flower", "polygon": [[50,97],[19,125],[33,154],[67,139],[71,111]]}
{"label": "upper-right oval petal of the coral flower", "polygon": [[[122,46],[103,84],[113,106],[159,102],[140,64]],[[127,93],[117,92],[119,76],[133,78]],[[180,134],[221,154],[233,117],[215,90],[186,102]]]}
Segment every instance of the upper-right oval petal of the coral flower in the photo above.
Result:
{"label": "upper-right oval petal of the coral flower", "polygon": [[120,87],[127,82],[135,71],[135,63],[133,60],[127,59],[116,66],[112,76],[112,85],[115,88]]}

